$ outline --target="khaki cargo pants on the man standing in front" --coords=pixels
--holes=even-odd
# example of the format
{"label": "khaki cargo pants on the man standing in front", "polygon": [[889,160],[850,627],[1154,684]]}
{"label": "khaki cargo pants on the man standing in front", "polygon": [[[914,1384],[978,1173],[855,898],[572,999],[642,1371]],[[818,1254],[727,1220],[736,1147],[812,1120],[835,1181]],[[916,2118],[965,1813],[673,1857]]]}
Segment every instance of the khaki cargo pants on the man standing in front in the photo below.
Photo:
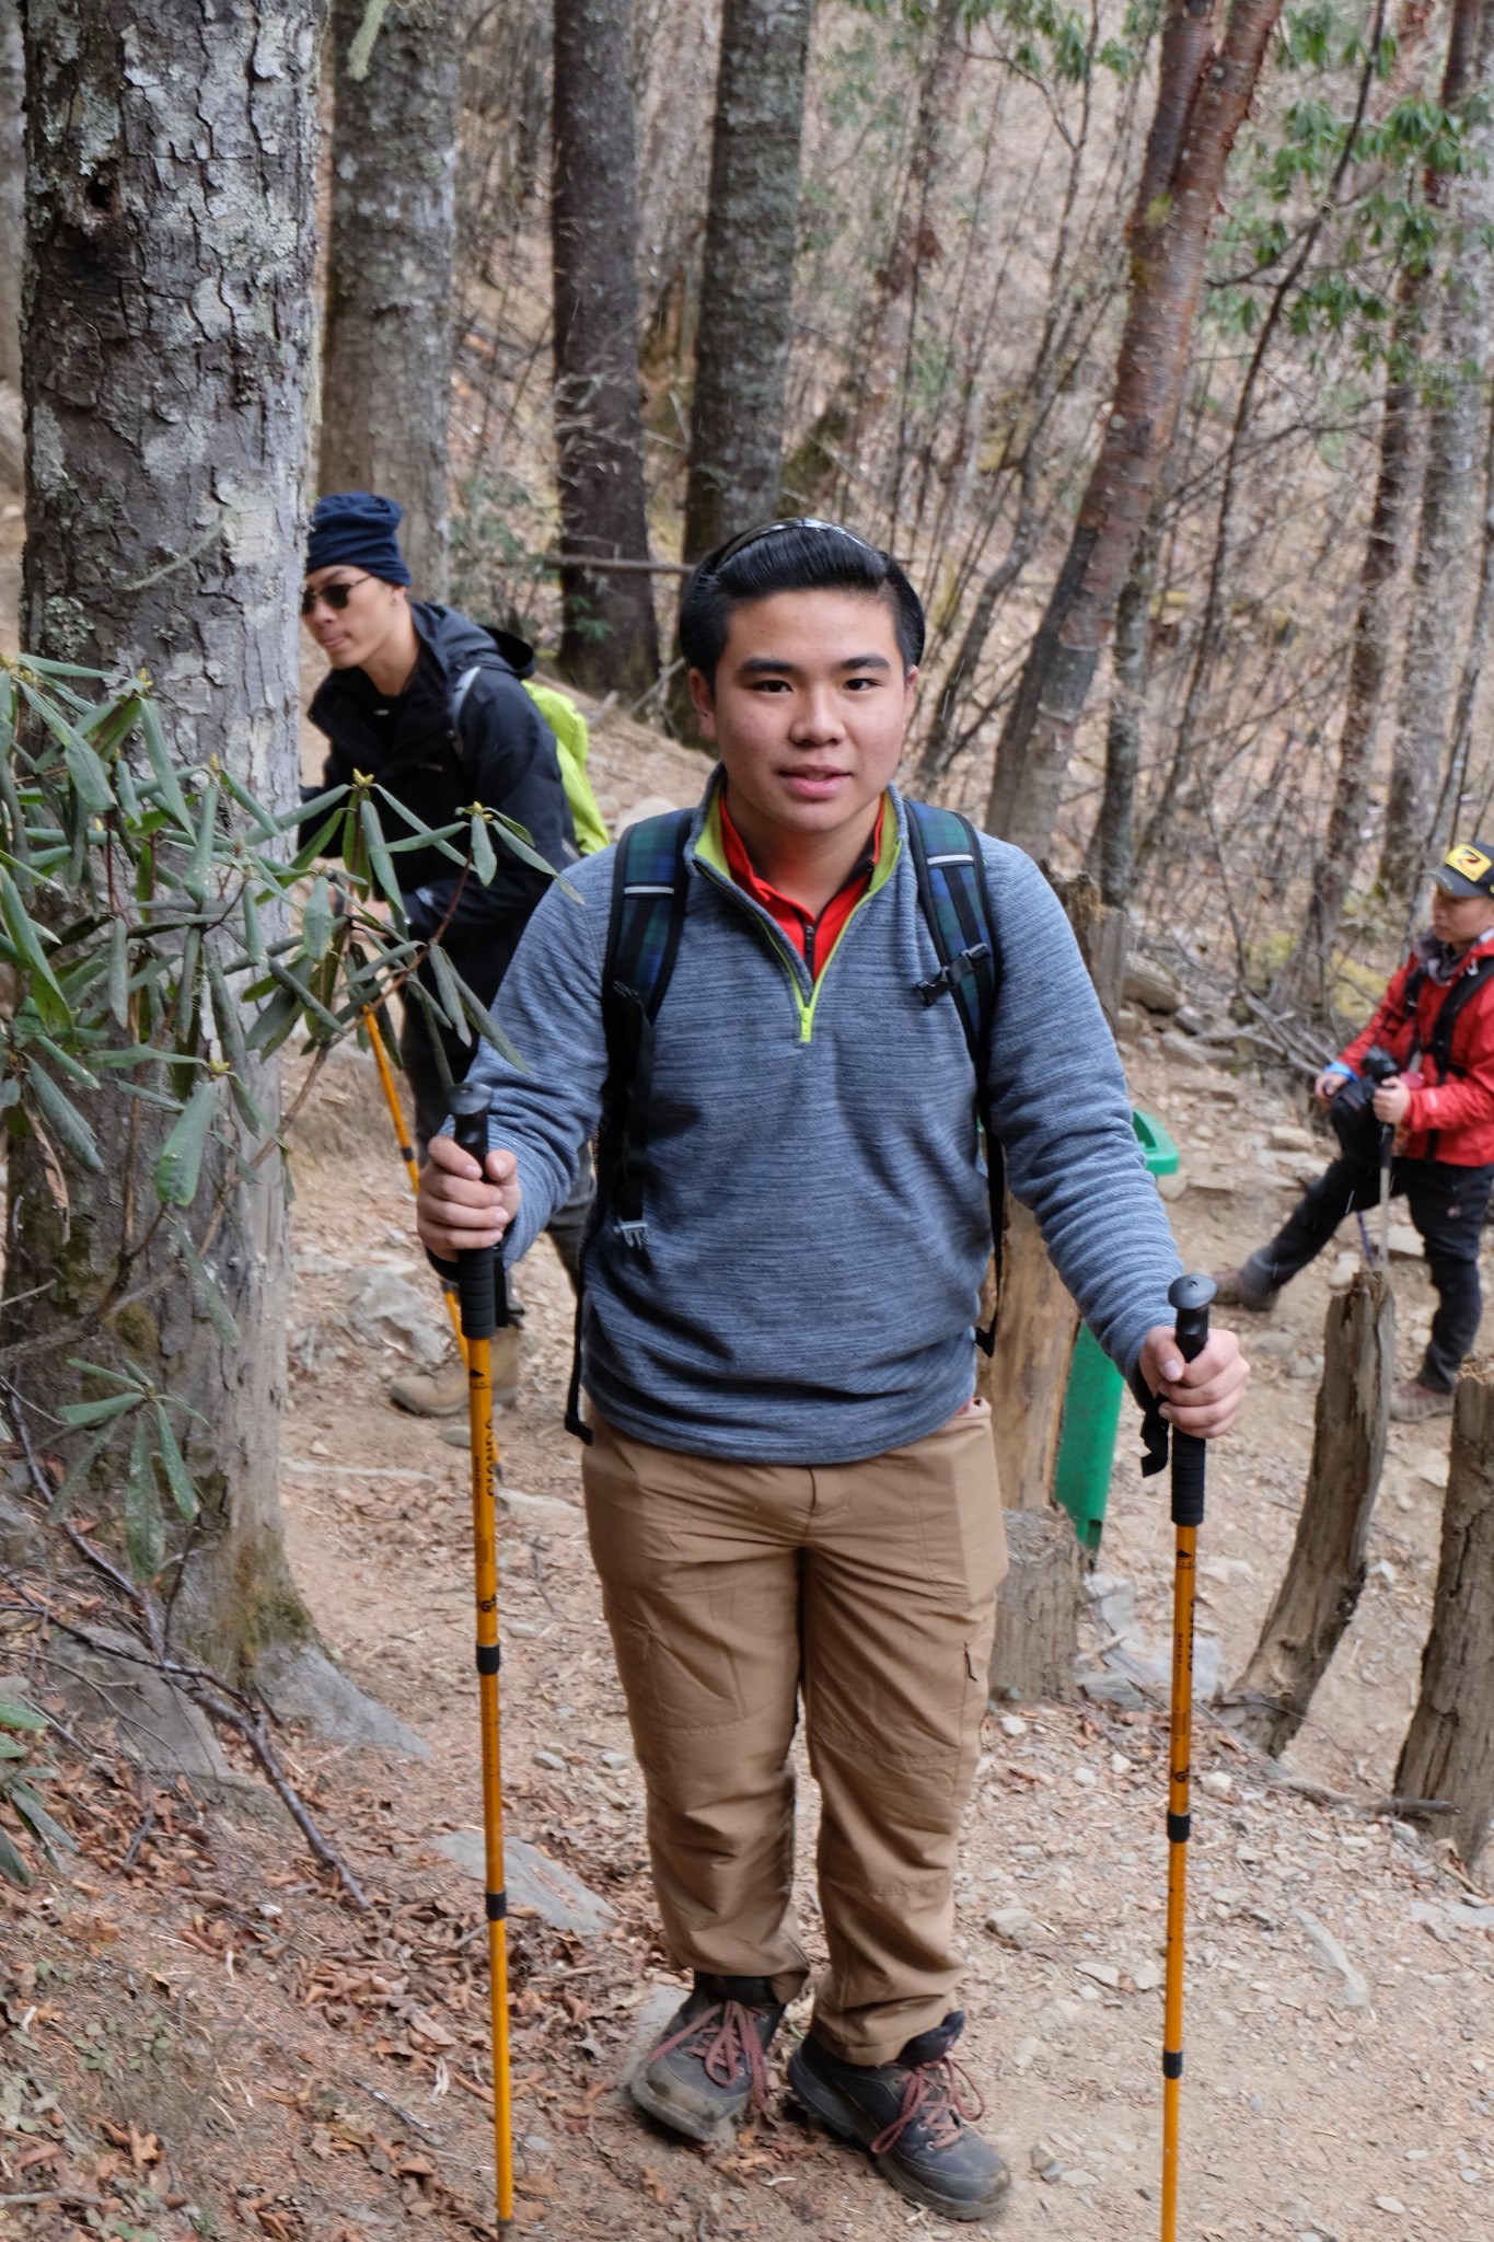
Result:
{"label": "khaki cargo pants on the man standing in front", "polygon": [[728,1464],[594,1417],[582,1462],[654,1890],[681,1971],[809,1977],[793,1933],[804,1699],[831,1966],[815,2036],[887,2063],[954,2007],[954,1845],[1006,1572],[983,1403],[865,1464]]}

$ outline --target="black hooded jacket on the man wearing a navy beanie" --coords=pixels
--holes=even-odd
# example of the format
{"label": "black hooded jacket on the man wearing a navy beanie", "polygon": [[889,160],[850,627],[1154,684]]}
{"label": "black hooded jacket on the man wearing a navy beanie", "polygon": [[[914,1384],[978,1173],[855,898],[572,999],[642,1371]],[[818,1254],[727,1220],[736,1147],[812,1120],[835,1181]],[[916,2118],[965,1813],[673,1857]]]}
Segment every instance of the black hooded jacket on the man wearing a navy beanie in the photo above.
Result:
{"label": "black hooded jacket on the man wearing a navy beanie", "polygon": [[[576,832],[560,780],[555,735],[531,702],[522,677],[533,655],[522,639],[495,639],[455,608],[410,601],[421,641],[414,677],[394,700],[374,686],[367,670],[332,670],[307,711],[332,742],[323,765],[327,787],[349,785],[367,771],[403,803],[421,825],[459,821],[470,803],[502,809],[522,825],[538,852],[564,870],[576,863]],[[452,724],[457,682],[477,670],[461,700],[461,738]],[[385,841],[405,841],[410,827],[374,796]],[[302,830],[302,839],[307,832]],[[464,839],[452,836],[452,847]],[[468,874],[443,946],[461,975],[491,1000],[508,969],[531,910],[549,881],[493,836],[497,872],[484,888]],[[437,930],[461,874],[450,856],[421,847],[394,859],[401,895],[417,937]]]}

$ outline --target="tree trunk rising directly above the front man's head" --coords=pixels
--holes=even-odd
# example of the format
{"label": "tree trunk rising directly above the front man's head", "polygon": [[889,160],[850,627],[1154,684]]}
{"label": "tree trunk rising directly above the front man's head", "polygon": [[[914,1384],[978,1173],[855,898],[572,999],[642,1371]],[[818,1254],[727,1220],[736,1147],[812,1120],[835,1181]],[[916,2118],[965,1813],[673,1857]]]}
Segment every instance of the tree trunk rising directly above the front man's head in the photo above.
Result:
{"label": "tree trunk rising directly above the front man's head", "polygon": [[809,0],[726,0],[685,560],[777,513],[806,63]]}

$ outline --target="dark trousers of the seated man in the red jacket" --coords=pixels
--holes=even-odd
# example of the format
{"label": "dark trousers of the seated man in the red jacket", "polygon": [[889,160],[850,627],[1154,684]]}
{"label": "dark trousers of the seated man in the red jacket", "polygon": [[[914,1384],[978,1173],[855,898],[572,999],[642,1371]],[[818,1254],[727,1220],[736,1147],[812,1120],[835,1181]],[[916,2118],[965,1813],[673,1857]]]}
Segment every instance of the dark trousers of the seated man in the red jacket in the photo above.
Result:
{"label": "dark trousers of the seated man in the red jacket", "polygon": [[[1431,1338],[1418,1372],[1434,1392],[1451,1392],[1465,1354],[1478,1336],[1483,1294],[1478,1289],[1478,1240],[1494,1186],[1494,1166],[1454,1168],[1447,1159],[1398,1159],[1391,1164],[1391,1195],[1404,1193],[1411,1222],[1427,1249],[1427,1267],[1438,1296]],[[1248,1285],[1274,1291],[1322,1253],[1344,1215],[1380,1204],[1380,1170],[1335,1159],[1299,1199],[1283,1229],[1245,1262]]]}

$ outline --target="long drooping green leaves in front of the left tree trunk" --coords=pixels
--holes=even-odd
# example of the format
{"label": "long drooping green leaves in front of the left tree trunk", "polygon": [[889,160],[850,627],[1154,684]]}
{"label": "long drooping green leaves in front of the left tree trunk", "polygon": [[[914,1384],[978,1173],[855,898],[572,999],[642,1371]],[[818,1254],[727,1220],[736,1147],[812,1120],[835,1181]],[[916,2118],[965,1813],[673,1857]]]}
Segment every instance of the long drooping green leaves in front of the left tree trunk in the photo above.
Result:
{"label": "long drooping green leaves in front of the left tree trunk", "polygon": [[[31,1134],[58,1204],[101,1175],[110,1110],[137,1110],[146,1188],[202,1316],[237,1345],[211,1269],[228,1191],[284,1150],[264,1063],[300,1036],[327,1051],[394,993],[441,1029],[515,1051],[439,939],[410,930],[399,859],[435,850],[457,895],[529,834],[470,805],[428,827],[370,776],[296,807],[262,803],[217,758],[172,753],[148,677],[0,657],[0,1114]],[[329,863],[329,859],[334,863]],[[146,1213],[148,1220],[148,1213]],[[105,1471],[123,1489],[130,1565],[166,1560],[168,1511],[199,1491],[170,1395],[74,1359],[74,1437],[56,1509]]]}

